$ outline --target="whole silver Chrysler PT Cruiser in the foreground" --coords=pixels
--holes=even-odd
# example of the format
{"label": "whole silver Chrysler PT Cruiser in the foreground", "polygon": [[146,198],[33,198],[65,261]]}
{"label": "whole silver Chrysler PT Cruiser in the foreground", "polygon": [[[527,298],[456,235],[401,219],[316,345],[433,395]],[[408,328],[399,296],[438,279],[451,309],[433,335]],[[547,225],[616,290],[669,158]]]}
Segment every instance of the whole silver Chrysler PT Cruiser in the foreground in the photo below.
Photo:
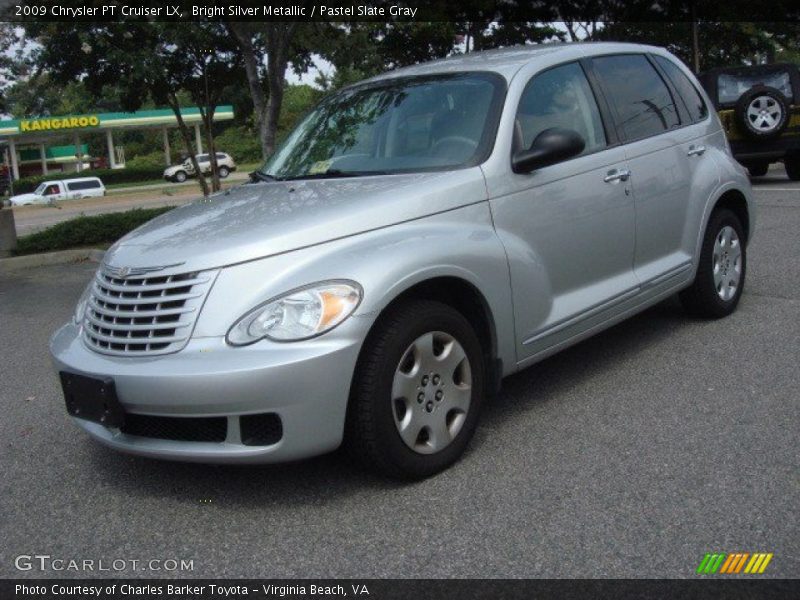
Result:
{"label": "whole silver Chrysler PT Cruiser in the foreground", "polygon": [[115,244],[51,351],[68,412],[143,456],[337,448],[418,478],[501,378],[676,293],[731,313],[751,190],[668,52],[568,44],[323,100],[253,182]]}

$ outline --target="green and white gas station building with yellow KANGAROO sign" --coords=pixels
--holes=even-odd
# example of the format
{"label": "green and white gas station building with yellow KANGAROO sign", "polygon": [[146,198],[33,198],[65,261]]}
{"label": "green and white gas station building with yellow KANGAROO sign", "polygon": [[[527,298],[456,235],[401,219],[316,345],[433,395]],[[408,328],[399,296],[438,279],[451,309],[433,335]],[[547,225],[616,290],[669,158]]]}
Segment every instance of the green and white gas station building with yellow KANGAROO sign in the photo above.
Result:
{"label": "green and white gas station building with yellow KANGAROO sign", "polygon": [[[195,150],[203,151],[200,135],[200,109],[196,106],[182,108],[181,118],[194,128]],[[218,106],[214,121],[233,119],[233,107]],[[125,167],[125,153],[121,146],[114,144],[114,132],[121,129],[159,128],[163,132],[164,163],[171,164],[169,129],[178,126],[171,109],[140,110],[132,113],[89,113],[83,115],[64,115],[32,117],[0,121],[0,142],[6,146],[5,163],[14,179],[20,177],[20,165],[27,165],[28,174],[42,174],[57,171],[80,172],[91,168],[86,156],[88,146],[81,142],[89,135],[104,135],[106,156],[98,157],[102,166],[117,169]],[[48,142],[72,138],[71,145],[53,145]],[[95,165],[97,166],[97,165]]]}

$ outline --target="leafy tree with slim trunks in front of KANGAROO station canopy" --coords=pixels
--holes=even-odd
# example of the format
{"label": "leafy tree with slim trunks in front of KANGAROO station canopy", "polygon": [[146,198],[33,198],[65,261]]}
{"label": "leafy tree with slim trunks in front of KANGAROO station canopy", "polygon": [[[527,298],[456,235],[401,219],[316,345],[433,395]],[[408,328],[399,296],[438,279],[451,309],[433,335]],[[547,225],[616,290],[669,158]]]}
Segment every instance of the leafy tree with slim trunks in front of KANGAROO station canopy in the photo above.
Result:
{"label": "leafy tree with slim trunks in front of KANGAROO station canopy", "polygon": [[138,110],[148,100],[168,105],[203,194],[208,195],[180,106],[182,93],[188,93],[203,109],[206,132],[212,135],[213,106],[225,82],[235,76],[239,56],[221,25],[130,20],[72,27],[39,22],[25,27],[40,46],[37,67],[54,79],[80,80],[94,98],[113,88],[120,108],[127,111]]}

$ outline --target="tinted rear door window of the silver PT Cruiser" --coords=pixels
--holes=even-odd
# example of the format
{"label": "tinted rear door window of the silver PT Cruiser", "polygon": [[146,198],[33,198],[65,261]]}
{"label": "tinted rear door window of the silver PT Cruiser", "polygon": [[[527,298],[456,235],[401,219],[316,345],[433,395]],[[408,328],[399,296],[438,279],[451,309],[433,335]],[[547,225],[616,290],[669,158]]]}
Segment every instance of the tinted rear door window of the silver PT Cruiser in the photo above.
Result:
{"label": "tinted rear door window of the silver PT Cruiser", "polygon": [[601,56],[592,62],[627,141],[663,133],[679,124],[669,88],[643,55]]}

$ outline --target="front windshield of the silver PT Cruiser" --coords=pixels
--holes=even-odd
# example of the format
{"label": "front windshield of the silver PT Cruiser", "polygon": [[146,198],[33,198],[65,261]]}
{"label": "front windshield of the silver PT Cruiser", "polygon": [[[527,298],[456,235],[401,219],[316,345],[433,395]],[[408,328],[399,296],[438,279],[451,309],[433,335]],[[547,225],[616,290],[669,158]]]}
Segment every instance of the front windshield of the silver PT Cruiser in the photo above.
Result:
{"label": "front windshield of the silver PT Cruiser", "polygon": [[504,90],[502,78],[488,73],[344,90],[312,110],[260,173],[302,179],[478,164],[491,149]]}

